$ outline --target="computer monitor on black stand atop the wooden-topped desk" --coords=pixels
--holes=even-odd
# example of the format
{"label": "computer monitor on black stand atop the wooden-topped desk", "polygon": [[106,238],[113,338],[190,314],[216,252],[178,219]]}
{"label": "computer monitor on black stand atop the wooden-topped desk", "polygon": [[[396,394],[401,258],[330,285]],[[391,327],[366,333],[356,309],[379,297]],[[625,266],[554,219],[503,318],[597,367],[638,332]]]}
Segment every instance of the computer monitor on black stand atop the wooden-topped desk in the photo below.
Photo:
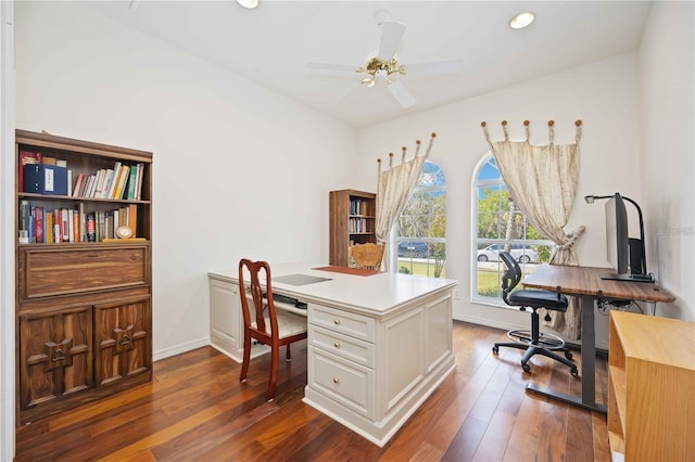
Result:
{"label": "computer monitor on black stand atop the wooden-topped desk", "polygon": [[[605,197],[605,196],[604,196]],[[603,197],[602,197],[603,198]],[[640,230],[641,239],[630,238],[628,210],[624,201],[639,206],[630,198],[615,193],[606,202],[606,251],[608,262],[616,272],[603,273],[602,279],[633,282],[653,282],[646,272],[644,255],[644,230]],[[643,227],[640,220],[640,227]]]}

